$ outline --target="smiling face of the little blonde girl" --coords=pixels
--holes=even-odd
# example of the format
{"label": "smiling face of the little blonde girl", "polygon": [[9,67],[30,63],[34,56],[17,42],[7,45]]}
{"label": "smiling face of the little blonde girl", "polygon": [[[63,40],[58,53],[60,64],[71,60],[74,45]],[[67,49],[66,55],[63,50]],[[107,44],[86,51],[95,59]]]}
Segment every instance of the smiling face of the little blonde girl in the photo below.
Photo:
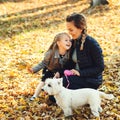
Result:
{"label": "smiling face of the little blonde girl", "polygon": [[62,38],[57,41],[57,45],[59,49],[69,50],[72,46],[72,42],[70,37],[68,37],[67,35],[63,35]]}

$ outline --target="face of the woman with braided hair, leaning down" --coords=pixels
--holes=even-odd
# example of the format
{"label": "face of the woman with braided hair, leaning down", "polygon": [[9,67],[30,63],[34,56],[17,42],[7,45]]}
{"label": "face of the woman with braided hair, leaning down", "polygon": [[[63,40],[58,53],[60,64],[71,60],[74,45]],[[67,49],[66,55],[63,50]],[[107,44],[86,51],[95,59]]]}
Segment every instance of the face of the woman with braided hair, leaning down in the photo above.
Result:
{"label": "face of the woman with braided hair, leaning down", "polygon": [[77,39],[81,35],[82,30],[80,28],[77,28],[74,25],[74,22],[67,22],[66,26],[69,34],[72,36],[73,39]]}

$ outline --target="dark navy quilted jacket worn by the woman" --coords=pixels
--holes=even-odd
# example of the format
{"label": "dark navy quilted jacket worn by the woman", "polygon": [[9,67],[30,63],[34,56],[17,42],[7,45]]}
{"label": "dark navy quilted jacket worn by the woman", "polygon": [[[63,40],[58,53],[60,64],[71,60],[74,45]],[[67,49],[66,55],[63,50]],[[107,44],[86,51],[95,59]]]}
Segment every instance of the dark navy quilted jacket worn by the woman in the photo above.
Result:
{"label": "dark navy quilted jacket worn by the woman", "polygon": [[[77,63],[79,66],[79,73],[81,78],[85,78],[89,82],[102,83],[102,72],[104,70],[104,60],[102,55],[102,49],[98,42],[87,36],[83,50],[80,50],[81,37],[77,40],[73,40],[73,46],[71,50],[71,59],[76,48]],[[75,68],[75,63],[70,64]]]}

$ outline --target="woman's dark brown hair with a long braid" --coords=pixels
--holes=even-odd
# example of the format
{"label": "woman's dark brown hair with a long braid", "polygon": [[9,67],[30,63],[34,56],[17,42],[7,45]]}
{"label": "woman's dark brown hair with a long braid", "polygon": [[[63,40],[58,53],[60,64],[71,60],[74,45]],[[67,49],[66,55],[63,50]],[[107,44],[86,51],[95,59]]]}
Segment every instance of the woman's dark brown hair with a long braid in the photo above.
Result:
{"label": "woman's dark brown hair with a long braid", "polygon": [[71,15],[68,15],[66,18],[66,22],[74,22],[75,27],[79,28],[82,30],[82,40],[81,40],[81,46],[80,50],[83,50],[84,47],[84,42],[87,36],[87,24],[86,24],[86,19],[84,15],[78,14],[78,13],[73,13]]}

